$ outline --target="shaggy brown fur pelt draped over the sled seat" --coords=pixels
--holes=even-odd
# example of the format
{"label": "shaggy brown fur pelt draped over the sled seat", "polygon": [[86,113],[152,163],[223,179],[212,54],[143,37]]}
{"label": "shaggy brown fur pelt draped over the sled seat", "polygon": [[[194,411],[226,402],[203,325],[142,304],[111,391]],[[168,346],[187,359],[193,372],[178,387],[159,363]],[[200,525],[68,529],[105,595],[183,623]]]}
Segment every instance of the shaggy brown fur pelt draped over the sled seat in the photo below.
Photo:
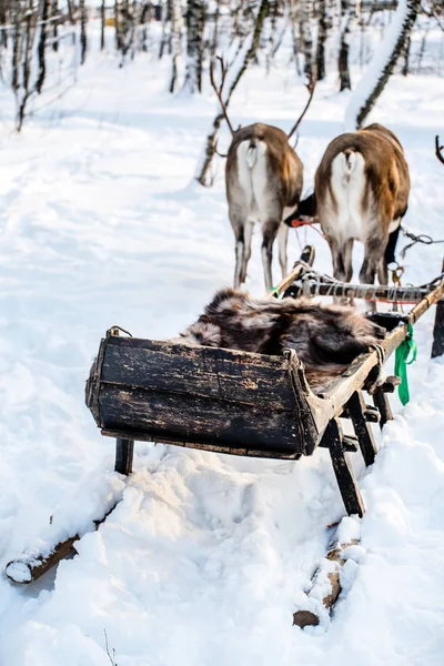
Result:
{"label": "shaggy brown fur pelt draped over the sled seat", "polygon": [[384,334],[354,307],[256,299],[225,289],[181,333],[181,342],[271,355],[294,349],[309,383],[320,392]]}

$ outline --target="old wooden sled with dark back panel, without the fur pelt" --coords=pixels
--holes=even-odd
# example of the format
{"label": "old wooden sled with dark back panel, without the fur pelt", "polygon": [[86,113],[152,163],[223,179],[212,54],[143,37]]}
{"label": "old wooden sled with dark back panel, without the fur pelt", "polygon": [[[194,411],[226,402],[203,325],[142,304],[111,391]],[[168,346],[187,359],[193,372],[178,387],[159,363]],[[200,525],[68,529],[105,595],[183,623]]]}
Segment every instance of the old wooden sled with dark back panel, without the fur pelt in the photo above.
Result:
{"label": "old wooden sled with dark back panel, without the fur pelt", "polygon": [[[314,249],[305,248],[293,271],[271,297],[299,289],[313,260]],[[309,287],[304,286],[305,295],[312,293]],[[360,296],[353,293],[351,285],[342,287],[346,295]],[[401,292],[397,290],[396,301],[403,300]],[[102,434],[115,437],[115,471],[121,474],[131,473],[134,441],[139,440],[295,461],[313,455],[323,446],[329,448],[346,513],[362,516],[364,505],[349,453],[360,450],[366,465],[374,462],[377,451],[371,423],[379,422],[383,427],[392,418],[387,393],[395,390],[397,377],[389,377],[376,390],[373,405],[366,404],[364,386],[404,341],[407,324],[414,324],[435,303],[432,355],[443,353],[443,293],[444,280],[440,278],[428,290],[420,287],[415,294],[417,303],[407,315],[373,315],[372,319],[387,329],[386,337],[377,347],[356,357],[322,395],[311,391],[294,350],[285,350],[282,356],[266,356],[226,349],[190,347],[122,336],[123,331],[113,326],[101,341],[91,367],[87,405]],[[411,292],[408,299],[412,299]],[[352,422],[354,436],[343,434],[341,418]],[[70,539],[68,549],[75,538]],[[31,582],[57,564],[65,552],[63,544],[54,544],[49,556],[39,559],[34,555],[32,562],[20,556],[8,567],[10,572],[28,567],[28,579],[21,582]],[[17,581],[8,571],[7,575]]]}

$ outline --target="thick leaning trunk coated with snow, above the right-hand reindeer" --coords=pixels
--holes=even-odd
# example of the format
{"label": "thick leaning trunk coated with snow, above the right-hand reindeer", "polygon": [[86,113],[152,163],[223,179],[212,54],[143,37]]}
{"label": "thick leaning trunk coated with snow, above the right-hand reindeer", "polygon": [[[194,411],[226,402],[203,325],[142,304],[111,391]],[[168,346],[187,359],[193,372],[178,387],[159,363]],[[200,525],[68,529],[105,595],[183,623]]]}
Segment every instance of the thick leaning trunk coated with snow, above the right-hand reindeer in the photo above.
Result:
{"label": "thick leaning trunk coated with snow, above the right-hand reindeer", "polygon": [[[405,48],[420,8],[421,0],[400,0],[385,37],[387,51],[380,50],[370,64],[369,74],[364,74],[364,79],[355,92],[355,99],[351,100],[346,112],[347,125],[352,124],[354,117],[355,127],[360,128],[375,105]],[[386,52],[389,56],[384,58]]]}

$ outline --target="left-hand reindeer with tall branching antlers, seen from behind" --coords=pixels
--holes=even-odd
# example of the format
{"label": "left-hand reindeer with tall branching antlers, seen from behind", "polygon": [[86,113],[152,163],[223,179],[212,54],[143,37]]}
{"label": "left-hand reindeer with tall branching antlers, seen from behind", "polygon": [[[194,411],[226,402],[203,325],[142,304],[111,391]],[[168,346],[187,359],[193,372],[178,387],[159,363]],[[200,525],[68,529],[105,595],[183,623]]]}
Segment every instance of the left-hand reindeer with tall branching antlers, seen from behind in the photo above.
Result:
{"label": "left-hand reindeer with tall branching antlers, seen from behind", "polygon": [[271,290],[273,243],[278,235],[279,261],[284,276],[289,228],[283,224],[283,220],[296,210],[303,183],[303,165],[290,147],[289,139],[310,105],[314,81],[307,84],[309,101],[289,134],[261,122],[233,130],[222,99],[226,70],[222,59],[218,60],[222,69],[220,88],[214,82],[213,65],[210,78],[232,135],[226,155],[225,185],[229,218],[235,238],[234,286],[239,287],[245,282],[253,226],[254,222],[259,222],[262,230],[264,281],[266,289]]}

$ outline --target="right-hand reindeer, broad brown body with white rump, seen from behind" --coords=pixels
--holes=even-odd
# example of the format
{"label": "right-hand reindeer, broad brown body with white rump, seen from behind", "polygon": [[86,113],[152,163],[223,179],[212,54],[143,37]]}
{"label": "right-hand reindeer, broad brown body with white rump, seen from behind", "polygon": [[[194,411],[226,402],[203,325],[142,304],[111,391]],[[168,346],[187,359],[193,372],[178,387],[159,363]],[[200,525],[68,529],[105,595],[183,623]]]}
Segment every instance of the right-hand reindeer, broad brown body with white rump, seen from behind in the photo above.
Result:
{"label": "right-hand reindeer, broad brown body with white rump, seen from behind", "polygon": [[[387,259],[408,203],[410,176],[396,137],[374,123],[341,134],[329,145],[315,174],[314,195],[301,202],[301,213],[317,214],[341,282],[353,275],[353,242],[364,243],[360,281],[373,284],[375,274],[387,284]],[[390,251],[390,252],[389,252]],[[385,256],[384,256],[385,255]]]}

